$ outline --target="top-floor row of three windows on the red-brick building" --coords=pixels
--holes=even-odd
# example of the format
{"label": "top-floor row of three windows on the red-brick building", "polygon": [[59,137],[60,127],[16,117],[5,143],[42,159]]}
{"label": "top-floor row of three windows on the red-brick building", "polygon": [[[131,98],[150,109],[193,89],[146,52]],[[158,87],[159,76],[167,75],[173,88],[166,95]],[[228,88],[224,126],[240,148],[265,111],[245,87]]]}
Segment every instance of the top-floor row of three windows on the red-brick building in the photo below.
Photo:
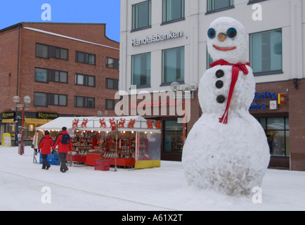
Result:
{"label": "top-floor row of three windows on the red-brick building", "polygon": [[[68,60],[69,50],[57,46],[37,43],[35,55],[38,58],[58,58],[62,60]],[[96,55],[82,51],[75,51],[75,62],[96,65]],[[116,58],[106,57],[106,68],[119,70],[119,60]]]}

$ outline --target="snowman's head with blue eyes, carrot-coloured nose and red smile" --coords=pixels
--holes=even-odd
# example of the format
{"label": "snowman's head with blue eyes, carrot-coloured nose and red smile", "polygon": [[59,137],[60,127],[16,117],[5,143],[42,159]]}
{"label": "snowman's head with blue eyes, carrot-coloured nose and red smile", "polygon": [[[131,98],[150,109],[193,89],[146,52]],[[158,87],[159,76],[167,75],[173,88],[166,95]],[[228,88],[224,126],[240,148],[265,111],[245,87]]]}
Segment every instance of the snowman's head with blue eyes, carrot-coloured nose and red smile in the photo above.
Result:
{"label": "snowman's head with blue eyes, carrot-coloured nose and red smile", "polygon": [[248,39],[245,27],[238,20],[217,18],[207,31],[207,50],[214,61],[223,59],[229,63],[246,63]]}

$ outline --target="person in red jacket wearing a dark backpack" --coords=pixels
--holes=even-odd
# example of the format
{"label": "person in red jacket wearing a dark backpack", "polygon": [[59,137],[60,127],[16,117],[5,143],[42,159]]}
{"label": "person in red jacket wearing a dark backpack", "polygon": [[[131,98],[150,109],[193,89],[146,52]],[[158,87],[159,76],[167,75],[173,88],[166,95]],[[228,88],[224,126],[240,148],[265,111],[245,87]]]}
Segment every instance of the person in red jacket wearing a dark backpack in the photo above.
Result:
{"label": "person in red jacket wearing a dark backpack", "polygon": [[65,158],[67,157],[68,151],[72,151],[72,141],[70,135],[67,133],[67,127],[63,127],[60,134],[56,136],[53,149],[55,149],[56,146],[58,146],[60,172],[64,173],[68,170],[67,165],[65,164]]}

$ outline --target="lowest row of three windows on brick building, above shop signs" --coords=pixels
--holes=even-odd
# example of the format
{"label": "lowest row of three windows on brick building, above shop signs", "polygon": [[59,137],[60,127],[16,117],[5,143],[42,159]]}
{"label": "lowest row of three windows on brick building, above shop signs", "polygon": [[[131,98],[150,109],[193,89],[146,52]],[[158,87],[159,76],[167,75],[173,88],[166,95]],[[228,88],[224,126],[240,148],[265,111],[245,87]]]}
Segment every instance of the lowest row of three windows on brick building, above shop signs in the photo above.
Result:
{"label": "lowest row of three windows on brick building, above shop signs", "polygon": [[[74,96],[74,107],[95,108],[95,98]],[[67,106],[67,95],[34,92],[34,106],[48,107],[48,105]],[[114,110],[115,100],[105,99],[105,109]]]}

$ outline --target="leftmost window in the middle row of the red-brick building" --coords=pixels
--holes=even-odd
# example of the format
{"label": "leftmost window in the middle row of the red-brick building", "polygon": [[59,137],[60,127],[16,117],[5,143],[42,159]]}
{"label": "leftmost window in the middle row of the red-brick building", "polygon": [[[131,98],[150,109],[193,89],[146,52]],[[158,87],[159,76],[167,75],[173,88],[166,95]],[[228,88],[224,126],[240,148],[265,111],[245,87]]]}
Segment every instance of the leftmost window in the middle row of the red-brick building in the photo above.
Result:
{"label": "leftmost window in the middle row of the red-brick building", "polygon": [[35,82],[60,82],[67,83],[67,72],[35,68]]}

